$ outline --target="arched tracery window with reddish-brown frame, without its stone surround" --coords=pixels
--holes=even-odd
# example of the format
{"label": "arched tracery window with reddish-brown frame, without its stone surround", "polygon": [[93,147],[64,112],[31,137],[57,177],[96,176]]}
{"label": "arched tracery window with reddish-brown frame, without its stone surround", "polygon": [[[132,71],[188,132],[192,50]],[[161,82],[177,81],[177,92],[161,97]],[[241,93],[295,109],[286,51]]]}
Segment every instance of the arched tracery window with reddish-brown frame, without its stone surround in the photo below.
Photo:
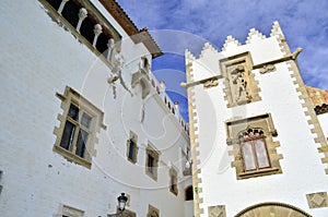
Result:
{"label": "arched tracery window with reddish-brown frame, without its stone surround", "polygon": [[248,129],[239,134],[239,140],[245,171],[270,167],[266,136],[262,130]]}

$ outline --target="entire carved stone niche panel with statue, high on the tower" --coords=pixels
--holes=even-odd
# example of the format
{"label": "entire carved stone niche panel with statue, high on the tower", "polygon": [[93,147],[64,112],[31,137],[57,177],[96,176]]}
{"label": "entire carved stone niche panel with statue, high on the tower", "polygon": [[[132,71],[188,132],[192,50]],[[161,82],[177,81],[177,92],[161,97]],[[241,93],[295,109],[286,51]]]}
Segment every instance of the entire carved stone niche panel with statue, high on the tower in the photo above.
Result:
{"label": "entire carved stone niche panel with statue, high on the tower", "polygon": [[249,52],[243,52],[220,60],[224,80],[226,107],[235,107],[261,100],[258,81],[255,80],[253,60]]}

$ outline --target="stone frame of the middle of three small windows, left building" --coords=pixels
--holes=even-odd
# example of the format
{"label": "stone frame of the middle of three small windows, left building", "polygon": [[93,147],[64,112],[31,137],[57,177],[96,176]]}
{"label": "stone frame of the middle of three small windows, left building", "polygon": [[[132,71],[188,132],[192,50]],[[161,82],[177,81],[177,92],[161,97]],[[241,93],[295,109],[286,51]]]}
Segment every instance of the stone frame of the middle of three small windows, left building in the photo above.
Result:
{"label": "stone frame of the middle of three small windows, left building", "polygon": [[[152,167],[150,167],[150,160],[152,160]],[[154,181],[157,181],[159,162],[160,152],[151,143],[148,143],[145,148],[145,173]]]}

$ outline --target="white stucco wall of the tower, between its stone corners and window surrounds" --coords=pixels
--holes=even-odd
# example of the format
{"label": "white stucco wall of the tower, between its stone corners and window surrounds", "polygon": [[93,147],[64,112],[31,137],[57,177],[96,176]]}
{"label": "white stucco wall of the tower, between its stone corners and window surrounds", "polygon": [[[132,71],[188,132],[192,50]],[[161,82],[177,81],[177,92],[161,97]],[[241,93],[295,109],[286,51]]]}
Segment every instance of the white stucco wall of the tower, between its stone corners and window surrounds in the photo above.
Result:
{"label": "white stucco wall of the tower, between its stone corners and window surrounds", "polygon": [[[260,39],[255,36],[250,44],[230,46],[222,52],[208,46],[200,58],[192,61],[192,81],[221,74],[219,60],[244,51],[250,51],[254,65],[284,55],[276,37]],[[296,93],[297,84],[291,77],[290,65],[282,62],[276,68],[277,71],[268,74],[253,70],[259,82],[261,100],[244,106],[226,107],[224,79],[219,80],[215,87],[195,86],[198,169],[201,169],[199,188],[202,189],[199,197],[203,198],[200,203],[203,217],[208,216],[209,206],[225,205],[226,216],[234,216],[263,202],[291,204],[313,216],[327,215],[327,208],[309,209],[306,201],[308,193],[327,191],[328,177],[320,160],[323,155],[317,150],[318,144],[314,142],[316,135],[311,132],[313,126],[307,123],[309,117],[304,114],[305,108],[298,98],[300,93]],[[226,145],[225,121],[268,112],[278,131],[273,141],[281,144],[277,152],[283,155],[280,160],[283,173],[237,180],[235,169],[231,167],[233,157],[229,152],[232,147]]]}

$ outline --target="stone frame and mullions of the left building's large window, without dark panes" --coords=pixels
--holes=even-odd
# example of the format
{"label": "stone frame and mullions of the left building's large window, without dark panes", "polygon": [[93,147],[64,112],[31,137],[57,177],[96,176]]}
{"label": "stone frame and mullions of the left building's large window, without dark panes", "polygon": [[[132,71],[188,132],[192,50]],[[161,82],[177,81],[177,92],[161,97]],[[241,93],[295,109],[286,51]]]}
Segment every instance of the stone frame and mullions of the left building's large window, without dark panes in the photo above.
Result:
{"label": "stone frame and mullions of the left building's large window, without dark panes", "polygon": [[[99,133],[101,128],[106,130],[106,125],[104,125],[103,123],[104,112],[101,109],[98,109],[96,106],[94,106],[92,103],[90,103],[86,98],[81,96],[77,91],[74,91],[69,86],[66,87],[63,95],[56,93],[56,96],[59,99],[61,99],[61,109],[63,110],[63,112],[62,114],[58,114],[57,117],[57,119],[60,121],[60,125],[55,126],[54,130],[54,134],[56,135],[56,142],[52,150],[60,154],[69,161],[77,162],[81,166],[91,169],[92,157],[96,157],[96,150],[94,148],[94,145],[98,142],[96,134]],[[63,131],[65,131],[65,125],[69,119],[68,112],[71,105],[78,107],[79,111],[83,111],[87,113],[92,119],[89,129],[87,142],[85,145],[85,152],[87,155],[85,155],[83,158],[72,153],[74,148],[71,149],[72,147],[70,147],[70,149],[66,149],[60,146]],[[81,124],[81,123],[75,122],[75,124]],[[72,143],[77,142],[77,136],[79,133],[74,133],[74,134],[75,135]]]}

